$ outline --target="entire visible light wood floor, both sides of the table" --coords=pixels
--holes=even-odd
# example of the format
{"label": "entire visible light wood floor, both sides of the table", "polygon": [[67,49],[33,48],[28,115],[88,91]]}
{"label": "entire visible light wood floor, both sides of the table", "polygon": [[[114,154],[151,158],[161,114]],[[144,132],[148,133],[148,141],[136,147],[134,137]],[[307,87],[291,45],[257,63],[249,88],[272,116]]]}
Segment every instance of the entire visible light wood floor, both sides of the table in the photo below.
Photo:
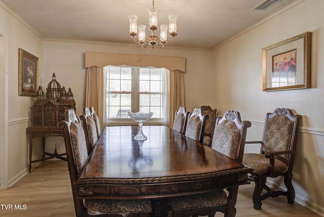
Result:
{"label": "entire visible light wood floor, both sides of the table", "polygon": [[[286,197],[262,201],[262,210],[252,204],[254,184],[239,187],[236,216],[320,216]],[[75,216],[71,184],[65,161],[45,161],[11,188],[0,192],[0,216]],[[12,205],[12,209],[6,206]],[[15,209],[21,205],[21,209]],[[25,205],[25,206],[24,206]],[[224,216],[216,213],[215,216]]]}

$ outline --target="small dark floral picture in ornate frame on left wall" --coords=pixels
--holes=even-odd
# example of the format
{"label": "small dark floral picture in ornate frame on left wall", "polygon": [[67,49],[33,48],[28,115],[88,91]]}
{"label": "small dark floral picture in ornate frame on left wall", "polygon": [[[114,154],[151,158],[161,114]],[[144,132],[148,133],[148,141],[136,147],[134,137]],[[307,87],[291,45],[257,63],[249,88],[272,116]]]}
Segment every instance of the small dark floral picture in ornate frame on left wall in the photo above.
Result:
{"label": "small dark floral picture in ornate frame on left wall", "polygon": [[18,95],[36,96],[38,87],[38,58],[19,48]]}

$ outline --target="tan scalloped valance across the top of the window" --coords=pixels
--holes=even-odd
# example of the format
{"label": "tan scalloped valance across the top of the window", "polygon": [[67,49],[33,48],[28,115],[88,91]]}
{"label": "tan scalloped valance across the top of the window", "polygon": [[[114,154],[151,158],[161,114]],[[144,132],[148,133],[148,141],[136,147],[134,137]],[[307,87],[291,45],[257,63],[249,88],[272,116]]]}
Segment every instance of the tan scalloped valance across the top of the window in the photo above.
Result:
{"label": "tan scalloped valance across the top of the window", "polygon": [[104,67],[107,65],[130,65],[136,67],[154,66],[169,70],[185,71],[186,58],[173,56],[150,56],[138,54],[118,54],[86,52],[85,66]]}

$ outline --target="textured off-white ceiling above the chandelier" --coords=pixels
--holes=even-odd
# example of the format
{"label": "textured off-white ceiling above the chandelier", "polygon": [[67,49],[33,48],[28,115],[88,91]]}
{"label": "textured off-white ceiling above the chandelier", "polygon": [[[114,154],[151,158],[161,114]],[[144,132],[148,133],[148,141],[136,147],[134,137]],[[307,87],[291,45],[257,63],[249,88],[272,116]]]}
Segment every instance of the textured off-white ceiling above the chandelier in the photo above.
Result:
{"label": "textured off-white ceiling above the chandelier", "polygon": [[[238,32],[298,0],[281,0],[265,11],[264,0],[155,0],[158,26],[177,14],[177,37],[168,47],[212,49]],[[45,39],[134,44],[128,15],[148,26],[150,0],[2,0]],[[148,27],[147,27],[148,29]],[[146,35],[149,30],[146,31]],[[157,30],[159,35],[159,30]]]}

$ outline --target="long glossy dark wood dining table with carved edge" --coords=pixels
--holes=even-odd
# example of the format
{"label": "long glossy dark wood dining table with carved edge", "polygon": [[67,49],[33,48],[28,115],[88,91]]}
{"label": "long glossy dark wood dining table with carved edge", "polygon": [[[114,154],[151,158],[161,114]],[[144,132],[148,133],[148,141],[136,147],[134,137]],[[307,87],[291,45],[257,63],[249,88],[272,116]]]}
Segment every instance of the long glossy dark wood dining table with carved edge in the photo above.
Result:
{"label": "long glossy dark wood dining table with carved edge", "polygon": [[251,168],[166,126],[105,127],[73,185],[78,199],[152,201],[153,216],[167,216],[167,198],[249,184]]}

